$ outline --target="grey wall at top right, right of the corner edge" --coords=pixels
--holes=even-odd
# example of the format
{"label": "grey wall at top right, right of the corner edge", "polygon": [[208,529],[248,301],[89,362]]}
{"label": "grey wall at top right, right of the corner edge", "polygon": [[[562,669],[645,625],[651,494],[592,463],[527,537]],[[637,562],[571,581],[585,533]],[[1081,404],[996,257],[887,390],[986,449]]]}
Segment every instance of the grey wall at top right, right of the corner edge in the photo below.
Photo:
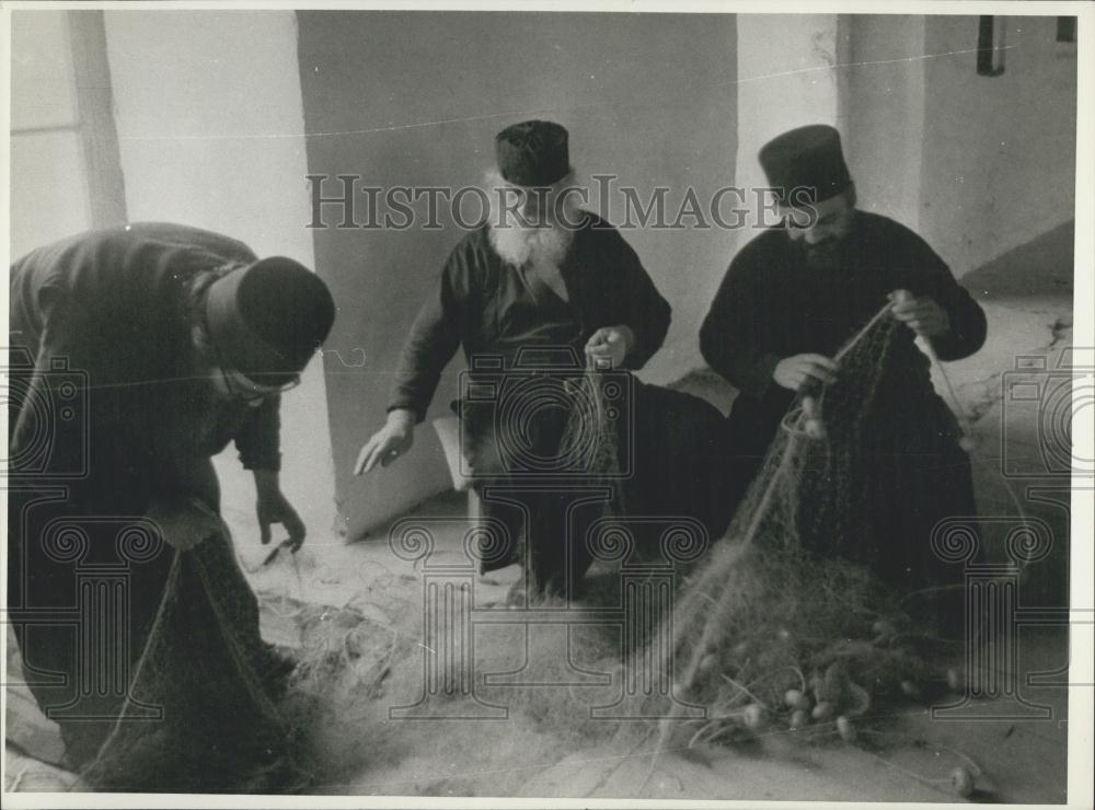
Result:
{"label": "grey wall at top right, right of the corner edge", "polygon": [[926,19],[926,51],[949,56],[924,62],[921,232],[959,276],[1074,216],[1076,46],[1053,16],[996,21],[1005,69],[981,77],[977,18]]}

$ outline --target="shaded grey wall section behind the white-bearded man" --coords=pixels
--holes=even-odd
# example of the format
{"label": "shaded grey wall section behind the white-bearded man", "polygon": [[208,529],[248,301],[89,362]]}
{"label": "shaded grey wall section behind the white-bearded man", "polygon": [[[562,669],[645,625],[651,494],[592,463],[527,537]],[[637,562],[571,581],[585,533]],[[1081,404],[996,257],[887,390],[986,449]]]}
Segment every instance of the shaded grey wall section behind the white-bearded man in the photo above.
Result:
{"label": "shaded grey wall section behind the white-bearded man", "polygon": [[[367,184],[388,187],[474,184],[494,162],[499,129],[546,117],[568,128],[579,173],[615,173],[618,185],[636,186],[643,199],[655,185],[670,186],[669,218],[687,187],[705,200],[734,180],[733,16],[298,16],[309,131],[343,134],[309,138],[314,173],[360,172]],[[619,202],[606,213],[618,222],[624,216]],[[437,294],[440,267],[463,235],[442,218],[445,228],[436,231],[315,231],[320,273],[355,308],[356,317],[336,324],[332,345],[368,352],[359,373],[328,377],[339,497],[351,534],[450,485],[429,426],[418,429],[413,452],[396,464],[348,475],[361,442],[383,424],[407,328],[422,301]],[[673,306],[666,346],[643,372],[665,382],[699,363],[696,333],[729,263],[734,234],[647,229],[623,235]],[[442,379],[430,417],[451,414],[462,366],[461,355]]]}

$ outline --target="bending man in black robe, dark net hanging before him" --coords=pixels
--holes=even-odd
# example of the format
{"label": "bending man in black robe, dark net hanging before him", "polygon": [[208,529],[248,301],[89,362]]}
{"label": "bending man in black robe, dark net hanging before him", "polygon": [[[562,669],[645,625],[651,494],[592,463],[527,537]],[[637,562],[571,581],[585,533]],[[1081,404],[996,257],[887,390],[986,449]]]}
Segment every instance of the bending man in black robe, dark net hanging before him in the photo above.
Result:
{"label": "bending man in black robe, dark net hanging before him", "polygon": [[269,707],[291,664],[260,636],[211,456],[235,442],[263,542],[281,523],[299,547],[278,410],[330,292],[166,223],[41,247],[10,292],[9,617],[68,762],[101,787],[268,787],[249,774],[286,753]]}

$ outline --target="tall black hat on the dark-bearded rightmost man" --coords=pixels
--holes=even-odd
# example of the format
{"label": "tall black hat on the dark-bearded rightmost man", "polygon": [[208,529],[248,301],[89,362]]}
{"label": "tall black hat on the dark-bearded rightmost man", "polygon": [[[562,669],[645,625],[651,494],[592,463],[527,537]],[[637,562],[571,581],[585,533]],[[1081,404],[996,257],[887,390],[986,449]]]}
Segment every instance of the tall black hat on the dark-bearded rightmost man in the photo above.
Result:
{"label": "tall black hat on the dark-bearded rightmost man", "polygon": [[[840,148],[840,132],[825,124],[792,129],[760,150],[760,164],[782,204],[820,202],[852,183]],[[794,193],[794,189],[805,189]]]}

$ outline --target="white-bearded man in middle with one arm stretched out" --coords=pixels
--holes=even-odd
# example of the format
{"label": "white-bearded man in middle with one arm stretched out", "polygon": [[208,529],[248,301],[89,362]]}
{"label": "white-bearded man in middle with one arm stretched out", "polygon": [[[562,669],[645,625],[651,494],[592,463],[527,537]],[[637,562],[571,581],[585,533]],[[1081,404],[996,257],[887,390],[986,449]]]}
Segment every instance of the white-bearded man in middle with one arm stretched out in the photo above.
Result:
{"label": "white-bearded man in middle with one arm stretched out", "polygon": [[[575,195],[567,193],[573,171],[566,129],[525,121],[499,132],[495,147],[497,172],[491,185],[500,189],[494,196],[496,208],[453,250],[437,293],[419,312],[404,346],[387,424],[361,449],[358,474],[387,466],[411,449],[414,427],[425,418],[441,371],[461,346],[472,378],[487,360],[494,367],[486,377],[496,383],[499,373],[526,379],[530,362],[542,369],[558,362],[565,367],[567,357],[573,358],[570,368],[576,359],[579,368],[587,363],[616,373],[634,371],[665,339],[670,308],[638,256],[619,231],[578,209]],[[465,396],[454,404],[462,421],[461,450],[480,490],[535,477],[499,464],[504,387],[494,389],[500,392],[495,398]],[[514,410],[521,412],[516,417],[520,424],[500,430],[519,436],[519,450],[529,458],[555,458],[566,407],[530,403]],[[523,544],[526,593],[574,595],[589,565],[585,532],[576,528],[577,518],[564,522],[567,497],[558,491],[558,471],[549,464],[540,472],[555,491],[522,493],[515,496],[520,504],[484,498],[483,517],[506,525],[511,542],[481,560],[481,568],[518,562]],[[519,589],[515,594],[520,595]]]}

